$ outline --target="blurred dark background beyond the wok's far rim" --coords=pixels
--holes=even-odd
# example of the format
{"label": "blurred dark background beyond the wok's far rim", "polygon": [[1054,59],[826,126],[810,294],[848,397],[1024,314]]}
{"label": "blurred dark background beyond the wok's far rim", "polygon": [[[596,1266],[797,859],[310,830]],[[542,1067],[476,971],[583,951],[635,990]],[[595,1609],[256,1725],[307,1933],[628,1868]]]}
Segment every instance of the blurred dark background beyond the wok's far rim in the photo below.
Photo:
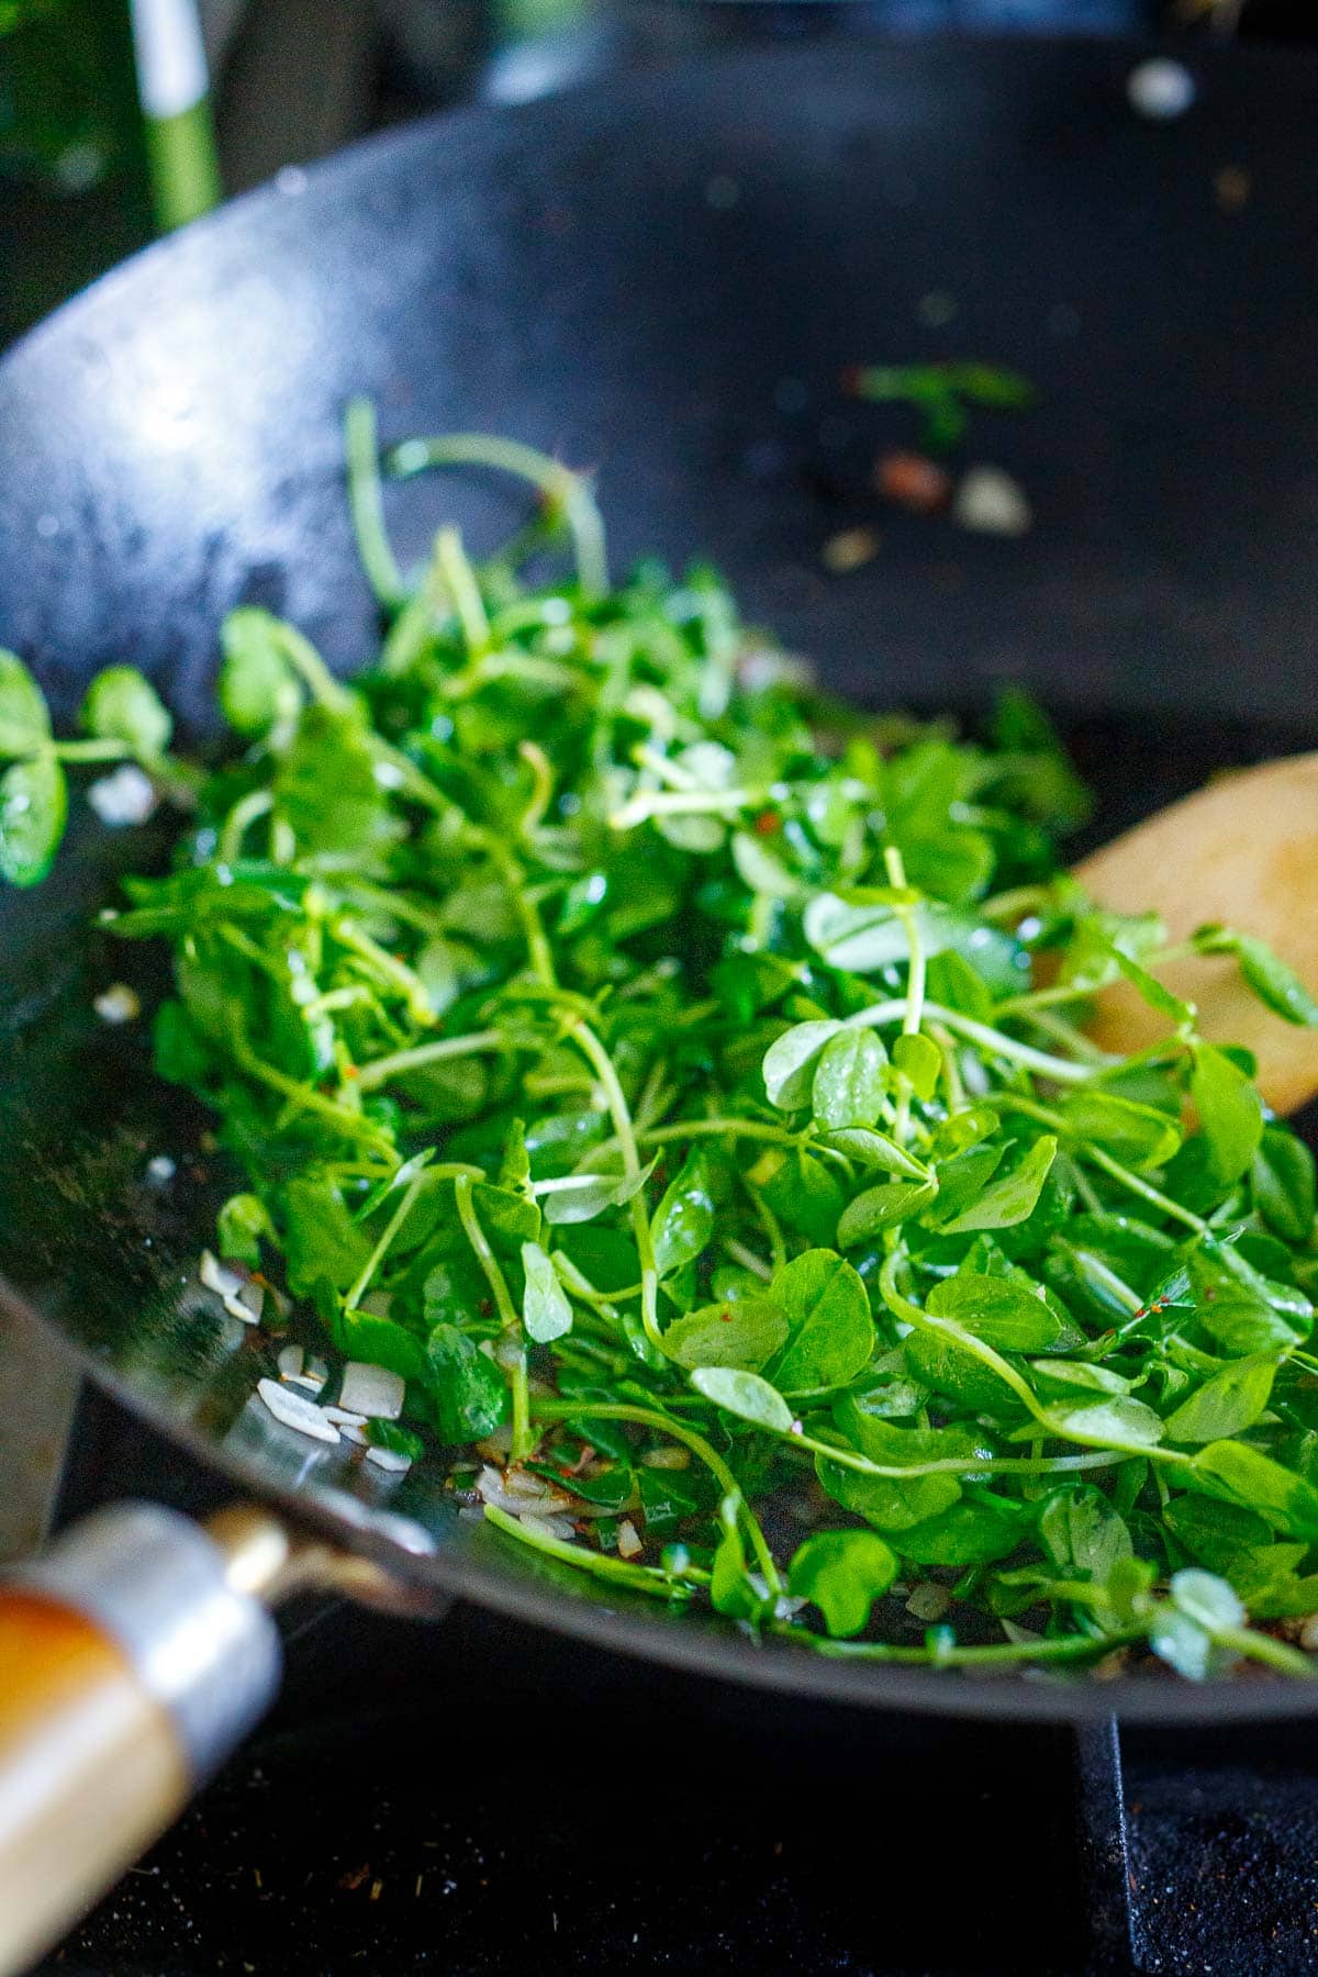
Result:
{"label": "blurred dark background beyond the wok's far rim", "polygon": [[[472,101],[751,40],[1318,40],[1308,0],[200,0],[227,190]],[[8,34],[6,22],[12,22]],[[128,0],[0,0],[0,346],[152,233]]]}

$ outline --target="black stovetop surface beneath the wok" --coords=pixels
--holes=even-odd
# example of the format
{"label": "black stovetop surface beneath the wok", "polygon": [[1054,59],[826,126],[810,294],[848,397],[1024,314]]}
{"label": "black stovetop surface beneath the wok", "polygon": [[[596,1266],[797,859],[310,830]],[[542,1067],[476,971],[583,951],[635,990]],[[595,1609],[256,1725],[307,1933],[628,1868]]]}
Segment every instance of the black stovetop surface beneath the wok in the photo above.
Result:
{"label": "black stovetop surface beneath the wok", "polygon": [[[73,1445],[65,1510],[206,1503],[105,1402]],[[1122,1752],[1124,1868],[1101,1734],[786,1702],[468,1607],[320,1609],[265,1730],[43,1977],[1318,1967],[1318,1736]]]}

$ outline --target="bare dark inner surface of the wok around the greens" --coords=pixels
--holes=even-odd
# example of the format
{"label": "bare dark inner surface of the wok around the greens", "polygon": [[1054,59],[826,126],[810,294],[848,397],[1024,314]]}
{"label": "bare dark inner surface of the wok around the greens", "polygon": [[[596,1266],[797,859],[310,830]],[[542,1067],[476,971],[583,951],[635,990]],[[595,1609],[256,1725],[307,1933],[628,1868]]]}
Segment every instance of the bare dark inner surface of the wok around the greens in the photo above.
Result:
{"label": "bare dark inner surface of the wok around the greens", "polygon": [[[1223,761],[1312,747],[1318,403],[1282,382],[1308,362],[1300,134],[1318,77],[1205,59],[1172,130],[1128,111],[1132,59],[1111,43],[737,55],[449,119],[239,202],[0,366],[0,643],[65,718],[97,666],[132,660],[200,733],[239,601],[360,664],[375,627],[340,415],[368,391],[387,439],[490,429],[597,463],[618,563],[713,556],[751,619],[869,704],[974,708],[1024,680],[1099,779],[1099,834]],[[1227,162],[1257,188],[1237,214],[1213,194]],[[956,299],[952,330],[921,326],[933,291]],[[1033,532],[885,514],[879,556],[828,577],[820,546],[875,520],[867,467],[895,437],[840,370],[943,354],[1035,382],[1033,413],[982,425]],[[441,518],[476,546],[514,518],[464,480],[391,502],[403,559]],[[45,888],[0,902],[0,1269],[235,1483],[419,1586],[773,1686],[1026,1716],[1314,1706],[1275,1682],[968,1682],[757,1649],[510,1556],[454,1518],[427,1463],[389,1493],[281,1429],[251,1400],[275,1348],[225,1331],[190,1275],[227,1192],[196,1155],[204,1121],[154,1081],[140,1030],[89,1008],[134,969],[158,988],[150,957],[111,953],[89,913],[162,852],[150,830],[83,820]],[[178,1162],[168,1188],[154,1155]]]}

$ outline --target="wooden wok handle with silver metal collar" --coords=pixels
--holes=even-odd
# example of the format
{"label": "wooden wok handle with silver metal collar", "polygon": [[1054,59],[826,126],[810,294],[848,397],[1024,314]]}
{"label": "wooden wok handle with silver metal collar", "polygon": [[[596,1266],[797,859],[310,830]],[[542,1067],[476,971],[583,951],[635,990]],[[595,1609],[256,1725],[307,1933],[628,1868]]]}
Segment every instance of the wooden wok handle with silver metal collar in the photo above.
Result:
{"label": "wooden wok handle with silver metal collar", "polygon": [[172,1510],[119,1504],[0,1586],[0,1977],[91,1908],[263,1714],[279,1635],[249,1566]]}

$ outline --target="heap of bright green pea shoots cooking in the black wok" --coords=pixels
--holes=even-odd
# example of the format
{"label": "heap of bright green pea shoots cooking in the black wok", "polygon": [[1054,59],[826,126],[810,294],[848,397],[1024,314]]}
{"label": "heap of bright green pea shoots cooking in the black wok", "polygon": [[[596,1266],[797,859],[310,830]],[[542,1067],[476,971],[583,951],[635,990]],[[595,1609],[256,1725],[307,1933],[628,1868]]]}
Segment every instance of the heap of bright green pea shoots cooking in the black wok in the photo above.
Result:
{"label": "heap of bright green pea shoots cooking in the black wok", "polygon": [[[534,520],[403,571],[381,473],[472,465]],[[832,704],[713,571],[613,579],[528,447],[381,467],[358,405],[350,480],[381,652],[344,684],[233,613],[219,767],[130,668],[59,741],[0,660],[10,882],[79,763],[192,805],[105,925],[172,949],[154,1056],[233,1164],[221,1253],[405,1382],[399,1461],[622,1590],[875,1661],[1308,1675],[1314,1160],[1160,923],[1061,870],[1043,716]],[[1195,945],[1318,1022],[1257,941]],[[1166,1024],[1130,1060],[1085,1030],[1116,977]]]}

